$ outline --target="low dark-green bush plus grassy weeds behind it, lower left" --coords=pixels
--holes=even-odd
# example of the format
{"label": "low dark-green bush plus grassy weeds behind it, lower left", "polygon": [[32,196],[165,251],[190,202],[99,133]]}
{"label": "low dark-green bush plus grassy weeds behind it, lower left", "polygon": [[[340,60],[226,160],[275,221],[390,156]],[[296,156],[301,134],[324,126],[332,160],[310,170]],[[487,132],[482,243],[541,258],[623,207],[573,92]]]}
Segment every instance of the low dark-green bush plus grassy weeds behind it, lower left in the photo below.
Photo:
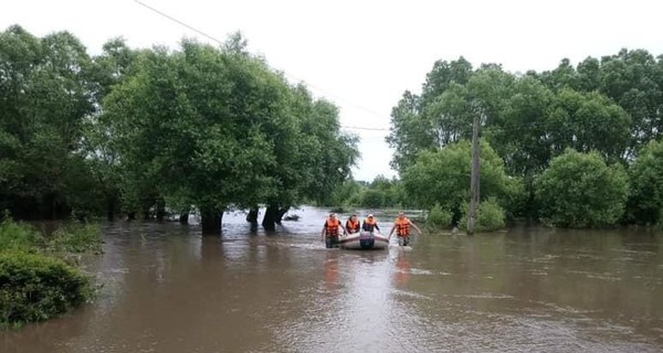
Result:
{"label": "low dark-green bush plus grassy weeds behind it, lower left", "polygon": [[0,327],[45,320],[91,299],[91,279],[53,255],[99,246],[99,229],[92,225],[43,236],[9,217],[0,223]]}

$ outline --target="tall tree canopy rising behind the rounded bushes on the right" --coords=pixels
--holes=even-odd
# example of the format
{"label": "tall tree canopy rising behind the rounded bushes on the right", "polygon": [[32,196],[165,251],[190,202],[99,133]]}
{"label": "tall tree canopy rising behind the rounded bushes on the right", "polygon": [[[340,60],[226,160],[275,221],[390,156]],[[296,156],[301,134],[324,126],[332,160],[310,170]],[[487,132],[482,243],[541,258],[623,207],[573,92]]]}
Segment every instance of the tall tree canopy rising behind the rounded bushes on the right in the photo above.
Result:
{"label": "tall tree canopy rising behind the rounded bushes on the right", "polygon": [[[424,195],[427,188],[435,184],[438,170],[453,167],[438,163],[425,170],[421,164],[432,162],[431,153],[440,148],[469,139],[472,120],[478,116],[482,139],[503,159],[506,173],[523,181],[523,189],[511,200],[498,199],[501,206],[509,217],[548,217],[554,207],[547,199],[536,197],[535,180],[556,157],[571,148],[593,151],[610,164],[630,164],[645,152],[649,141],[660,139],[662,63],[661,56],[643,50],[622,50],[600,60],[588,57],[577,66],[565,58],[555,69],[524,75],[506,73],[495,64],[473,68],[463,57],[435,62],[421,95],[406,92],[392,110],[387,137],[396,150],[392,167],[409,183],[409,191],[419,188],[415,193]],[[408,182],[417,163],[420,167],[413,170],[421,185]],[[459,173],[462,175],[465,173]],[[636,173],[630,175],[636,178]],[[424,207],[440,197],[464,202],[466,195],[454,195],[454,190],[465,189],[460,188],[465,182],[457,180],[453,188],[444,186],[448,191],[443,194],[417,202]],[[652,184],[651,178],[648,182]],[[642,190],[648,188],[652,189]],[[638,196],[630,199],[628,221],[657,220],[657,208],[646,205],[649,201],[639,206],[644,193],[634,192]],[[598,225],[597,220],[586,221],[580,223]]]}

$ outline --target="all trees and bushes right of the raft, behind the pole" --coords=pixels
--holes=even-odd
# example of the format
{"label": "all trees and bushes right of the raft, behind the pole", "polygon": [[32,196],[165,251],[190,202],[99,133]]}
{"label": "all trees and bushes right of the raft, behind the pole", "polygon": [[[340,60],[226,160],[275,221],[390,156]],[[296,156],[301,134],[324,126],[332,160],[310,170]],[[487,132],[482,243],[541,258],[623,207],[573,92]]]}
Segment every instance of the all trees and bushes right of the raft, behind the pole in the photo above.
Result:
{"label": "all trees and bushes right of the raft, behind the pole", "polygon": [[421,94],[406,92],[393,107],[387,141],[408,200],[454,223],[470,200],[475,116],[482,200],[503,217],[661,224],[663,56],[622,50],[525,74],[436,62]]}

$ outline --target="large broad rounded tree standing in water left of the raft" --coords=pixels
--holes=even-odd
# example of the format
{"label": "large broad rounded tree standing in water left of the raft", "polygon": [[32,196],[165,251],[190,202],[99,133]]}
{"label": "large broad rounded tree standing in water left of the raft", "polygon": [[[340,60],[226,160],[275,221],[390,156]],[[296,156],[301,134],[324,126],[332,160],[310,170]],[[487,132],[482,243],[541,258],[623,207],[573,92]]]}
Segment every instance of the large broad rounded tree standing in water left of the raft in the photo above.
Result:
{"label": "large broad rounded tree standing in water left of the raft", "polygon": [[357,157],[336,107],[291,86],[240,38],[231,41],[222,50],[185,41],[178,51],[141,53],[96,124],[114,140],[125,190],[152,185],[197,206],[208,233],[229,207],[263,203],[274,212],[328,193]]}

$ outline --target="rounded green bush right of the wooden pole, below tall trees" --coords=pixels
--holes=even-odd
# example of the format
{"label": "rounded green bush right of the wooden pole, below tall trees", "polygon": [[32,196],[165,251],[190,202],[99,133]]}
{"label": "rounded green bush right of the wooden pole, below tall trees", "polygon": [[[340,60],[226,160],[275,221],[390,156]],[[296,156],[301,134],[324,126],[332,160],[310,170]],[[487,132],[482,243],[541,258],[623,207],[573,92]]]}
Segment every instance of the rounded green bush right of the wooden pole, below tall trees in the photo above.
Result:
{"label": "rounded green bush right of the wooden pole, below tall trees", "polygon": [[612,225],[624,212],[629,192],[621,164],[606,165],[597,152],[567,149],[536,180],[541,218],[565,227]]}

